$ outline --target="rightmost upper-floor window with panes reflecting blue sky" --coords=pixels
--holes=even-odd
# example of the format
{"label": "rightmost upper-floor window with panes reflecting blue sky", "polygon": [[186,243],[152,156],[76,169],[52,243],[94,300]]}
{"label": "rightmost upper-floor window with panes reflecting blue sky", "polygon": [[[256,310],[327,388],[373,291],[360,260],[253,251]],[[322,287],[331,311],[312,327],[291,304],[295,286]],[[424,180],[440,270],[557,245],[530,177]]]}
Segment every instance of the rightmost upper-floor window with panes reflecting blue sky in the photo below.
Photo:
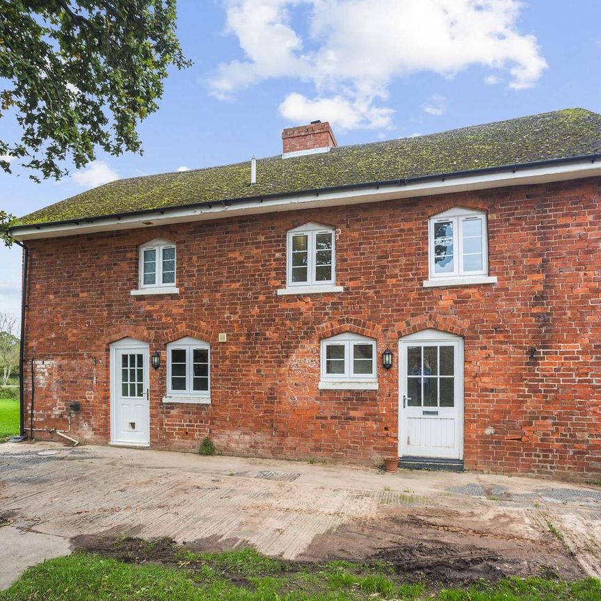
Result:
{"label": "rightmost upper-floor window with panes reflecting blue sky", "polygon": [[[486,213],[450,209],[430,218],[430,284],[488,283]],[[470,279],[472,278],[472,279]],[[426,282],[424,282],[426,284]]]}

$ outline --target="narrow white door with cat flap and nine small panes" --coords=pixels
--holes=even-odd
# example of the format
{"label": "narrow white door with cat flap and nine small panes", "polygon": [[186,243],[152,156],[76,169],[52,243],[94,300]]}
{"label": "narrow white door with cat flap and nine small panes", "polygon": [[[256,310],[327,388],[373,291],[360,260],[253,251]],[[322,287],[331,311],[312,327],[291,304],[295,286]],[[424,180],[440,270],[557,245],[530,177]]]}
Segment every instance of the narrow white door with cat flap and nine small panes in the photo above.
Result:
{"label": "narrow white door with cat flap and nine small panes", "polygon": [[124,339],[111,345],[111,442],[150,444],[148,345]]}

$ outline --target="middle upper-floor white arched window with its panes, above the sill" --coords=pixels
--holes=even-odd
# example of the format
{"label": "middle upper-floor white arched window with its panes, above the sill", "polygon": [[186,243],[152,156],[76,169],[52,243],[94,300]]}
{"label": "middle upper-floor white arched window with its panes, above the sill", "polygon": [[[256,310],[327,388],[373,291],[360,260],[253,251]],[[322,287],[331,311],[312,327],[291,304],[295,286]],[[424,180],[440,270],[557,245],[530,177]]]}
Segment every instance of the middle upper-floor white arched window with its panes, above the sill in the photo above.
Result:
{"label": "middle upper-floor white arched window with its panes, above the sill", "polygon": [[288,286],[333,284],[335,232],[331,227],[307,223],[288,232]]}

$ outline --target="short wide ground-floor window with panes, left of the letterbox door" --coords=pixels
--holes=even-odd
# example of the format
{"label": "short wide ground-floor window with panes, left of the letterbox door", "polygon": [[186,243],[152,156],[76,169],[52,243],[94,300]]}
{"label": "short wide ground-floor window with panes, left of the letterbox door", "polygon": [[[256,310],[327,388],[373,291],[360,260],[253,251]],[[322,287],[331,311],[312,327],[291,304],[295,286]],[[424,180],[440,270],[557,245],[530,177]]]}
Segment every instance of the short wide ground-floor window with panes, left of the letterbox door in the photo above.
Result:
{"label": "short wide ground-floor window with panes, left of the letterbox door", "polygon": [[374,389],[376,374],[376,341],[344,332],[321,341],[320,388]]}

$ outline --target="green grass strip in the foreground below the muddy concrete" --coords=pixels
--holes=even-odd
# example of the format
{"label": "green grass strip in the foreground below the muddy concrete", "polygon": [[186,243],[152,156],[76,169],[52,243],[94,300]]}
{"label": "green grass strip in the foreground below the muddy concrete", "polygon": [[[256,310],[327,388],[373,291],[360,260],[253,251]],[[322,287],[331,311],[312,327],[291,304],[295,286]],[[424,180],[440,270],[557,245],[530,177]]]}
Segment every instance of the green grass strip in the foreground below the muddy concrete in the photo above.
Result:
{"label": "green grass strip in the foreground below the muddy concrete", "polygon": [[[144,543],[152,547],[156,543]],[[175,547],[173,547],[175,548]],[[150,554],[152,556],[152,554]],[[196,554],[177,547],[163,563],[144,554],[79,551],[26,570],[0,601],[598,601],[601,582],[503,579],[463,588],[403,583],[387,563],[292,563],[253,550]]]}

